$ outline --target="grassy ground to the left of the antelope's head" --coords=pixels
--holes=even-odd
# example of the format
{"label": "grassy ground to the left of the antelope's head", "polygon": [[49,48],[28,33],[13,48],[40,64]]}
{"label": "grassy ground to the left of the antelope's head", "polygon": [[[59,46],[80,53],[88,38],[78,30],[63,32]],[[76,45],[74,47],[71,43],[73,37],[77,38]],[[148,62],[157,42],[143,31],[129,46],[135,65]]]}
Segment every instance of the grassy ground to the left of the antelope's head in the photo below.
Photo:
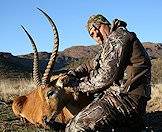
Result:
{"label": "grassy ground to the left of the antelope's head", "polygon": [[[11,109],[12,99],[23,95],[34,87],[30,80],[1,80],[0,81],[0,132],[1,131],[40,131],[29,123],[23,123]],[[38,129],[38,130],[37,130]]]}

